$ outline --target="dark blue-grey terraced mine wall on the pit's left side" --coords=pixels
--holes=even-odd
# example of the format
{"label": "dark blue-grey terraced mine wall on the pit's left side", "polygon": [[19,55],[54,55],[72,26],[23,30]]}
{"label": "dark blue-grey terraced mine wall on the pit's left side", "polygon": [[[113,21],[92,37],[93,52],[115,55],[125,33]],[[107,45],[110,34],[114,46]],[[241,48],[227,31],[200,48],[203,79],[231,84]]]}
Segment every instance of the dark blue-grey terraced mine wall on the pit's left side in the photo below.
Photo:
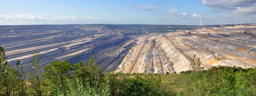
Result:
{"label": "dark blue-grey terraced mine wall on the pit's left side", "polygon": [[[0,26],[0,45],[12,66],[20,60],[25,69],[29,68],[34,51],[40,51],[43,65],[55,60],[67,60],[71,64],[86,62],[95,53],[100,66],[108,71],[118,67],[136,41],[118,30],[104,25]],[[105,53],[108,49],[112,55]]]}

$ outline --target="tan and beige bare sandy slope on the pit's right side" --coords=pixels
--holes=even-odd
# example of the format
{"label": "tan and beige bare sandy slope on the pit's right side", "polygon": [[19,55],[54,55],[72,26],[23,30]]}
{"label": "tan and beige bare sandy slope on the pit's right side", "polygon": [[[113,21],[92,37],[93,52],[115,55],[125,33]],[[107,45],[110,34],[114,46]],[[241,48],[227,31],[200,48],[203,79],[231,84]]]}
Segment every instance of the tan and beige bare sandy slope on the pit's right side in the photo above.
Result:
{"label": "tan and beige bare sandy slope on the pit's right side", "polygon": [[[252,34],[244,34],[244,29]],[[210,35],[204,34],[210,32]],[[145,45],[144,45],[145,44]],[[177,30],[138,38],[116,71],[125,73],[179,73],[189,70],[196,54],[204,69],[212,66],[254,68],[256,65],[256,26],[234,26]]]}

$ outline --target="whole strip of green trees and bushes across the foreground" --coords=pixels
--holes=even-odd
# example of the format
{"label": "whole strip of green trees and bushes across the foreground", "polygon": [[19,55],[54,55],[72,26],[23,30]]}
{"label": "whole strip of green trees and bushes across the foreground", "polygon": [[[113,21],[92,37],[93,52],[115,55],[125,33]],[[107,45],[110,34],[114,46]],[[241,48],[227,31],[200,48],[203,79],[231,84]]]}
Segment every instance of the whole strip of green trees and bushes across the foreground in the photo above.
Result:
{"label": "whole strip of green trees and bushes across the foreground", "polygon": [[203,70],[195,55],[190,62],[192,70],[180,75],[130,75],[115,70],[104,72],[94,55],[85,64],[57,60],[43,66],[39,53],[34,52],[31,67],[25,72],[20,61],[10,67],[0,46],[1,96],[256,95],[256,68],[217,66]]}

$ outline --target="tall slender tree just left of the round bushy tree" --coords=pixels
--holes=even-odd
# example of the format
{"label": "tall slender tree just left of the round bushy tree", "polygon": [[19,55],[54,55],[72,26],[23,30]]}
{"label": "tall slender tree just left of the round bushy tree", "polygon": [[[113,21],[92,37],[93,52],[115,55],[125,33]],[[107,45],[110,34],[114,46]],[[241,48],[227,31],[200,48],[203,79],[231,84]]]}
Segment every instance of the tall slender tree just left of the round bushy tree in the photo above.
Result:
{"label": "tall slender tree just left of the round bushy tree", "polygon": [[28,79],[31,83],[31,87],[36,91],[37,96],[43,94],[43,78],[42,78],[42,64],[40,63],[40,51],[34,52],[32,56],[32,66],[29,68]]}

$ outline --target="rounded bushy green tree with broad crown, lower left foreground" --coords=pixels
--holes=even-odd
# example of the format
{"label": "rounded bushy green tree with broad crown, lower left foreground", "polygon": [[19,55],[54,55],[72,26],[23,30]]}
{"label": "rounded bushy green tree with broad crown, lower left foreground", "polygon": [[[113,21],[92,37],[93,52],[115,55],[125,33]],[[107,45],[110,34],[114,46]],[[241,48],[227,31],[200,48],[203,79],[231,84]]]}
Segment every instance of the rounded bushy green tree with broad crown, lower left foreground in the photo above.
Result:
{"label": "rounded bushy green tree with broad crown, lower left foreground", "polygon": [[51,89],[61,90],[62,94],[65,94],[67,90],[68,78],[70,78],[70,72],[72,67],[68,61],[53,61],[50,65],[44,67],[44,78]]}

